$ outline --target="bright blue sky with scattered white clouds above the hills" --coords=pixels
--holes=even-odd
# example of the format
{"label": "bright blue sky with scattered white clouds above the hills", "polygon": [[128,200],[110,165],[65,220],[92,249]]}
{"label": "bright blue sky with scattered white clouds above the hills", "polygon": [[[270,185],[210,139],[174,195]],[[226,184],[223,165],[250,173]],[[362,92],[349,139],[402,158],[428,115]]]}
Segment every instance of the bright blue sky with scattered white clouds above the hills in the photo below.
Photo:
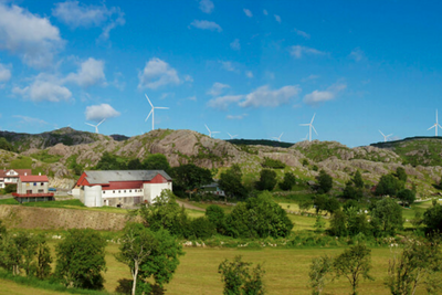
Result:
{"label": "bright blue sky with scattered white clouds above the hills", "polygon": [[[432,136],[440,1],[0,0],[0,129]],[[440,130],[442,133],[442,129]]]}

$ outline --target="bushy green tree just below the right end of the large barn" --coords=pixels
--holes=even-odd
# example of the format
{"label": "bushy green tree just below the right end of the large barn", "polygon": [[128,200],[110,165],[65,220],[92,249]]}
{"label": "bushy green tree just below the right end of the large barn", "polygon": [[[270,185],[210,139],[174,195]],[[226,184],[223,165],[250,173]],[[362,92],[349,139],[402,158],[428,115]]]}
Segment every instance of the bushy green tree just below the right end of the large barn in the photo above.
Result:
{"label": "bushy green tree just below the right end of the large barn", "polygon": [[187,236],[189,218],[183,207],[177,203],[177,198],[170,190],[162,190],[155,203],[143,206],[138,213],[144,224],[152,231],[166,229],[170,233]]}

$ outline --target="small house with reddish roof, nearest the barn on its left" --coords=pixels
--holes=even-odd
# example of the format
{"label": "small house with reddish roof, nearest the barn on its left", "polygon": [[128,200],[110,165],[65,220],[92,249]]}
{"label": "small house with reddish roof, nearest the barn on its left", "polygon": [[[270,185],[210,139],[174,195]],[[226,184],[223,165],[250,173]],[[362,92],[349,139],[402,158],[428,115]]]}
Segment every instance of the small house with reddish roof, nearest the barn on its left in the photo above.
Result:
{"label": "small house with reddish roof, nearest the barn on its left", "polygon": [[54,193],[49,192],[48,188],[48,176],[20,176],[17,192],[12,192],[12,196],[20,203],[54,201]]}

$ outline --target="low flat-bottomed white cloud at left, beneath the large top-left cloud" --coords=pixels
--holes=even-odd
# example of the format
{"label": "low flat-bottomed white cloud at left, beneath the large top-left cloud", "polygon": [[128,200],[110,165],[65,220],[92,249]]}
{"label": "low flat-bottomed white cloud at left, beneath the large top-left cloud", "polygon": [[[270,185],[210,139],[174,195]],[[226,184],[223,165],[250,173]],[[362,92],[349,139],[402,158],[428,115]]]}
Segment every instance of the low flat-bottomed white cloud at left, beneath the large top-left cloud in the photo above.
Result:
{"label": "low flat-bottomed white cloud at left, beneath the large top-left cloud", "polygon": [[39,74],[30,86],[13,87],[12,93],[36,103],[44,101],[57,103],[72,97],[71,91],[62,85],[60,78],[46,74]]}

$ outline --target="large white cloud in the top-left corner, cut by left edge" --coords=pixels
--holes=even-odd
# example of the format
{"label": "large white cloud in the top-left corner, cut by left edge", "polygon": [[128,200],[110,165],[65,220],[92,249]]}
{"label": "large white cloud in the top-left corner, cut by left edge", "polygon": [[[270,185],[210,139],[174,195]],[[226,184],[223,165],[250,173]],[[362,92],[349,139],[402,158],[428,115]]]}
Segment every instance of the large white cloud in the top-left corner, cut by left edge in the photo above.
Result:
{"label": "large white cloud in the top-left corner, cut by left edge", "polygon": [[64,41],[46,18],[0,2],[0,49],[19,55],[31,66],[48,67]]}

